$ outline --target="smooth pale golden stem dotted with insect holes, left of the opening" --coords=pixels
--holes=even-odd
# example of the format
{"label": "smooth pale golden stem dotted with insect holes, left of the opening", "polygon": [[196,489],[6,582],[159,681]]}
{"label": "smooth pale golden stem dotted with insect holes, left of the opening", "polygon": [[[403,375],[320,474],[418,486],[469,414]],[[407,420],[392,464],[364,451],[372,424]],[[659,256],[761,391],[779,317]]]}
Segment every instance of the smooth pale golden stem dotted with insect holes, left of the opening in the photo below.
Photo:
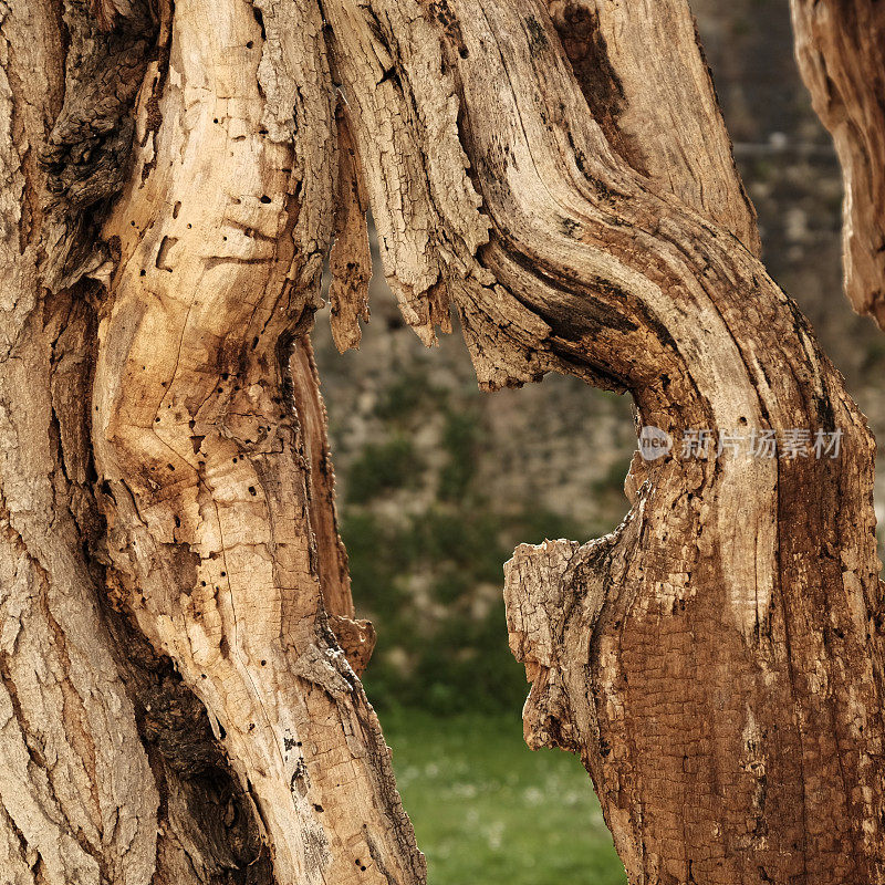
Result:
{"label": "smooth pale golden stem dotted with insect holes, left of the opening", "polygon": [[205,704],[274,881],[408,885],[424,858],[326,617],[324,597],[364,665],[298,341],[332,233],[332,102],[312,2],[178,0],[162,123],[146,139],[139,104],[104,228],[93,442],[126,606]]}

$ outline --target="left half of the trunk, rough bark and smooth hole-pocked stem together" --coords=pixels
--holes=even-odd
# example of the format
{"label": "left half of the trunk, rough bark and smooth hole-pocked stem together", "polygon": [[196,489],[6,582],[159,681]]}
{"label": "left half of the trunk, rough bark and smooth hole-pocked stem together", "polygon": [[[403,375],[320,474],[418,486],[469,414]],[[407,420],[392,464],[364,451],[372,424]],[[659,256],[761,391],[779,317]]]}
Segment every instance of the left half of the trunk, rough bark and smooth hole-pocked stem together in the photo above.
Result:
{"label": "left half of the trunk, rough bark and smooth hole-pocked stem together", "polygon": [[227,6],[1,22],[4,883],[424,879],[329,628],[319,11]]}

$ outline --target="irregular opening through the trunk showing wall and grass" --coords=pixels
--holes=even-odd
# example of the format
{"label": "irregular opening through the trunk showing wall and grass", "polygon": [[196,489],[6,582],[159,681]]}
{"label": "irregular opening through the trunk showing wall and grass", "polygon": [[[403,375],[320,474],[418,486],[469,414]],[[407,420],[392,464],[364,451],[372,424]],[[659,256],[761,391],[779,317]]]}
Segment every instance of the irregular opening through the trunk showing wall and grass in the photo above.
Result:
{"label": "irregular opening through the trunk showing wall and grass", "polygon": [[371,308],[360,351],[322,314],[312,337],[354,603],[378,633],[363,680],[429,881],[622,883],[580,761],[523,741],[501,589],[517,544],[622,520],[629,398],[559,375],[481,393],[457,329],[428,350],[403,322],[377,254]]}

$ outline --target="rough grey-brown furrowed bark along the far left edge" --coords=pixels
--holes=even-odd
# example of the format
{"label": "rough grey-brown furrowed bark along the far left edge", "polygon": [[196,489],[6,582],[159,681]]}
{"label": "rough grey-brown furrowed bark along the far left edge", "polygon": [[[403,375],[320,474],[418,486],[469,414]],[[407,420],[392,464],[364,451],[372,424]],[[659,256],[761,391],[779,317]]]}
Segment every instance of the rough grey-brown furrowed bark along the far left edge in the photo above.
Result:
{"label": "rough grey-brown furrowed bark along the far left edge", "polygon": [[0,12],[0,871],[14,885],[129,883],[153,856],[159,796],[82,553],[91,299],[43,299],[37,269],[34,146],[63,88],[48,3]]}

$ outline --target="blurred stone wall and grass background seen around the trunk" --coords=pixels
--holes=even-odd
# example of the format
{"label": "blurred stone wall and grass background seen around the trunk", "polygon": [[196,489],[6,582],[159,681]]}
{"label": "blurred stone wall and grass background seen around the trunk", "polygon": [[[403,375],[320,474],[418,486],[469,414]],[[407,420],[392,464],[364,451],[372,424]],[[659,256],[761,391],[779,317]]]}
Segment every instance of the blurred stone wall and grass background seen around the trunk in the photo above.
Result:
{"label": "blurred stone wall and grass background seen around the trunk", "polygon": [[[878,436],[885,334],[841,291],[839,166],[795,69],[788,4],[691,6],[769,272]],[[577,760],[522,743],[501,566],[521,542],[583,542],[622,520],[629,400],[553,375],[481,394],[457,331],[424,348],[377,266],[371,306],[358,352],[337,354],[322,315],[313,340],[353,595],[378,632],[364,681],[429,885],[624,883]]]}

